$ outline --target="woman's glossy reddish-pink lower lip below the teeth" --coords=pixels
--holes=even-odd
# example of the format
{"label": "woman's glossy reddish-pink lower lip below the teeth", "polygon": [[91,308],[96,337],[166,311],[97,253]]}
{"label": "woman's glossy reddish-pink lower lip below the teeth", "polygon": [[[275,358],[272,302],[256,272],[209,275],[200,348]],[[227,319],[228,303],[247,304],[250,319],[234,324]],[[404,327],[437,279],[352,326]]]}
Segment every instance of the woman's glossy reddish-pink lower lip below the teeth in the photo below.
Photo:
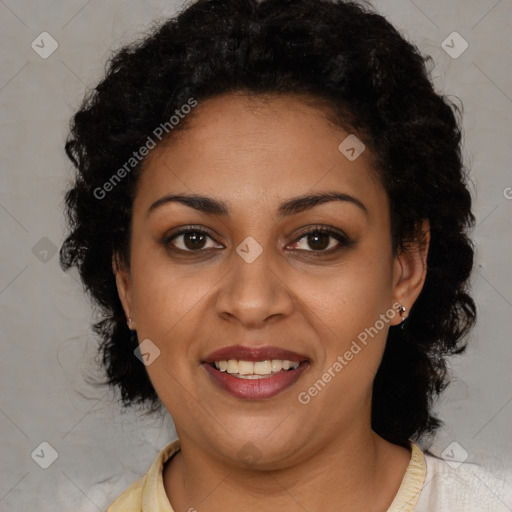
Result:
{"label": "woman's glossy reddish-pink lower lip below the teeth", "polygon": [[302,362],[295,370],[288,370],[263,379],[239,379],[227,372],[217,370],[209,363],[202,365],[213,382],[237,398],[258,400],[272,398],[292,386],[309,368],[309,362]]}

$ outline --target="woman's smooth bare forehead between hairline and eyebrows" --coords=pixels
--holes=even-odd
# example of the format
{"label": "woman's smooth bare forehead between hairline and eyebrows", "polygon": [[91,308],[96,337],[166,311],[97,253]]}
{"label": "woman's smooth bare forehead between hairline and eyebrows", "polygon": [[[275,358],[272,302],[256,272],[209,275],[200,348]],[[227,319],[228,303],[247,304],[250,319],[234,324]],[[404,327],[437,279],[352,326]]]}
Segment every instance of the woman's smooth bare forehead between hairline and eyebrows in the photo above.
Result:
{"label": "woman's smooth bare forehead between hairline and eyebrows", "polygon": [[257,205],[322,188],[385,201],[369,151],[353,161],[340,151],[347,136],[300,97],[210,98],[147,157],[137,197],[192,191]]}

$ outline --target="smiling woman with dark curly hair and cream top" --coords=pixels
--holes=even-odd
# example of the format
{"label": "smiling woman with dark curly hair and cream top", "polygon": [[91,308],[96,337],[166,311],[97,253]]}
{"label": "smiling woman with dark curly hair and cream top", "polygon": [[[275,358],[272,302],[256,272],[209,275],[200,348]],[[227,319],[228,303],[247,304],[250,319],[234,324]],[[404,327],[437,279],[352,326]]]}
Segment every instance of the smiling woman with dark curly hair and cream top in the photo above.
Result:
{"label": "smiling woman with dark curly hair and cream top", "polygon": [[109,512],[491,510],[419,446],[475,320],[456,114],[353,2],[200,0],[114,56],[61,262],[179,439]]}

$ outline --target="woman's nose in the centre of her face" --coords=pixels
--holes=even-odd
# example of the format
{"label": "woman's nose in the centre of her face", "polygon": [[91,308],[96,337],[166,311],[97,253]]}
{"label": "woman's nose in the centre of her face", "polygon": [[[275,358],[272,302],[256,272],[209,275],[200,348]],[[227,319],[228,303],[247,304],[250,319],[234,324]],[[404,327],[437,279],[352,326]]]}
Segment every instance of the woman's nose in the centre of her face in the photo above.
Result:
{"label": "woman's nose in the centre of her face", "polygon": [[292,314],[293,294],[277,265],[272,265],[270,250],[263,250],[251,262],[235,252],[232,258],[232,269],[216,294],[215,307],[221,318],[256,329]]}

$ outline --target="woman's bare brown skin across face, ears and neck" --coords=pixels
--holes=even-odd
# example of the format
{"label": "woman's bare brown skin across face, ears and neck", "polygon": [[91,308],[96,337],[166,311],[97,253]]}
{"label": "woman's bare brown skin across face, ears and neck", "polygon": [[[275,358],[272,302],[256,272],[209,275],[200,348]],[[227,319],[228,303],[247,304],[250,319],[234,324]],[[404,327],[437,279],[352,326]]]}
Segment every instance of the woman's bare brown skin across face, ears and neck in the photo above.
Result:
{"label": "woman's bare brown skin across face, ears and neck", "polygon": [[[161,351],[147,371],[182,444],[164,468],[171,505],[206,512],[255,510],[256,503],[259,511],[386,510],[410,452],[371,430],[371,395],[388,329],[400,315],[307,405],[297,395],[395,302],[410,310],[425,279],[428,228],[425,246],[393,255],[388,198],[368,150],[349,161],[338,150],[348,133],[300,98],[218,96],[201,102],[186,126],[147,158],[133,205],[130,268],[114,262],[131,328]],[[349,194],[367,211],[332,201],[277,215],[283,201],[320,191]],[[209,196],[230,213],[176,202],[147,213],[170,193]],[[211,233],[208,251],[165,247],[166,235],[187,225]],[[333,226],[353,243],[319,256],[303,235],[317,225]],[[263,248],[252,263],[236,252],[248,236]],[[339,245],[322,240],[328,249]],[[172,243],[191,247],[183,235]],[[311,366],[271,399],[235,398],[200,362],[237,343],[293,350]],[[248,443],[259,454],[252,466],[239,456]]]}

